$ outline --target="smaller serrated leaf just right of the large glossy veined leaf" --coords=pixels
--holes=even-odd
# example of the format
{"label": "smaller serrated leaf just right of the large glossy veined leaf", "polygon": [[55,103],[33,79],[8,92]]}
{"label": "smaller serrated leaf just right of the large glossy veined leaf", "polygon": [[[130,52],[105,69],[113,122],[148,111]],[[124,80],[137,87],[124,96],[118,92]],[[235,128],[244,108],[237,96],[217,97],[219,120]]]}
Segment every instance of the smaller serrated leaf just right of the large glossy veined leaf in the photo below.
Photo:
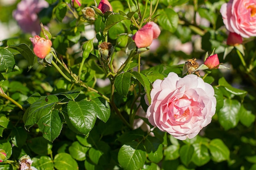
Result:
{"label": "smaller serrated leaf just right of the large glossy veined leaf", "polygon": [[92,99],[90,103],[94,108],[96,116],[106,123],[110,117],[110,106],[108,102],[102,97],[97,97]]}

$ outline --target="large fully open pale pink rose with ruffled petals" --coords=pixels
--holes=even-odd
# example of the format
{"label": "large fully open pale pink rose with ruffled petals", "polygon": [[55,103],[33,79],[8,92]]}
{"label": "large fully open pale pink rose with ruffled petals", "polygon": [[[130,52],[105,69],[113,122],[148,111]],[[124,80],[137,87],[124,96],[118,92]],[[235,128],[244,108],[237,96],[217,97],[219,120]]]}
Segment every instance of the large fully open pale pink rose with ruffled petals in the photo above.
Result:
{"label": "large fully open pale pink rose with ruffled petals", "polygon": [[216,111],[213,87],[192,74],[180,78],[169,73],[164,80],[157,79],[150,96],[150,124],[180,140],[198,135]]}

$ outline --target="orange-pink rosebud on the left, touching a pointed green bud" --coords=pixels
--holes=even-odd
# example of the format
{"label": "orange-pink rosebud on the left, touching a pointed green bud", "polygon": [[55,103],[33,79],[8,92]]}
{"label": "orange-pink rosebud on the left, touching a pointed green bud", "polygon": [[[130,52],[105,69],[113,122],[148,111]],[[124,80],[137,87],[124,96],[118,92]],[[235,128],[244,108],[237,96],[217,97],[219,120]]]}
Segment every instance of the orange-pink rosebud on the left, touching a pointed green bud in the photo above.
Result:
{"label": "orange-pink rosebud on the left, touching a pointed green bud", "polygon": [[45,56],[51,51],[51,40],[41,38],[38,35],[35,35],[33,38],[29,39],[33,43],[33,50],[37,57],[45,58]]}

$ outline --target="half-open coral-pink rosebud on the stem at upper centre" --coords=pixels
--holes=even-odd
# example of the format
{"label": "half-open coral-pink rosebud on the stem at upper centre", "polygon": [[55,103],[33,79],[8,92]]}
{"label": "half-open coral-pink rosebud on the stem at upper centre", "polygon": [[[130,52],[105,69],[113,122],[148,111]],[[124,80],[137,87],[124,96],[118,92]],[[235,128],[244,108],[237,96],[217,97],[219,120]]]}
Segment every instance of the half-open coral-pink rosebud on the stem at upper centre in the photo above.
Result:
{"label": "half-open coral-pink rosebud on the stem at upper centre", "polygon": [[160,33],[161,30],[155,22],[148,22],[133,35],[132,39],[138,48],[143,48],[150,46],[153,39],[157,39]]}

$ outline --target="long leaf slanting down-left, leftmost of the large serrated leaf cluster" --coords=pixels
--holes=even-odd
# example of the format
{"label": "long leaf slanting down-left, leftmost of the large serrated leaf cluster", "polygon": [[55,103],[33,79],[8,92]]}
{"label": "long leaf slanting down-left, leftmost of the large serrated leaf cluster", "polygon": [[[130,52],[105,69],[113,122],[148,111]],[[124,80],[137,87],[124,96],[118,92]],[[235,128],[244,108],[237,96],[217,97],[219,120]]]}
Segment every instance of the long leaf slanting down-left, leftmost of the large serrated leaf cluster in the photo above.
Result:
{"label": "long leaf slanting down-left, leftmost of the large serrated leaf cluster", "polygon": [[56,102],[58,102],[58,97],[55,95],[49,95],[34,102],[30,106],[25,125],[27,126],[36,124],[42,117],[48,115],[51,112]]}

